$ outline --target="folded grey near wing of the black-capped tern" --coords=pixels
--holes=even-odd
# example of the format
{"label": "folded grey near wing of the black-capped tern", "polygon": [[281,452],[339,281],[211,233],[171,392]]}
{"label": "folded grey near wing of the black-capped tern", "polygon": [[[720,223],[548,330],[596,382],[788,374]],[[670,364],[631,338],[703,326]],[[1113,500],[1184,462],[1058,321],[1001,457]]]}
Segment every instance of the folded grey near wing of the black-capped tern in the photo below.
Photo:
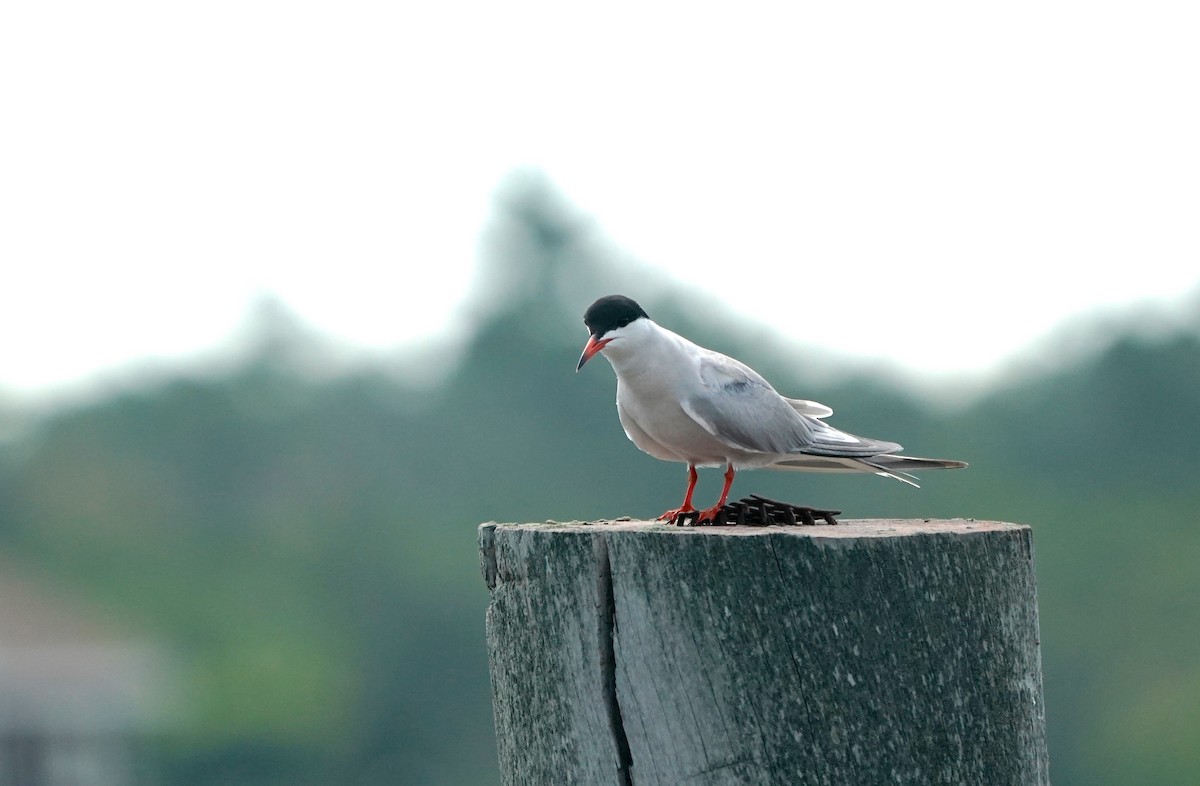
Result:
{"label": "folded grey near wing of the black-capped tern", "polygon": [[708,433],[731,448],[762,454],[875,456],[895,443],[856,437],[800,414],[749,366],[719,353],[701,359],[702,385],[680,403]]}

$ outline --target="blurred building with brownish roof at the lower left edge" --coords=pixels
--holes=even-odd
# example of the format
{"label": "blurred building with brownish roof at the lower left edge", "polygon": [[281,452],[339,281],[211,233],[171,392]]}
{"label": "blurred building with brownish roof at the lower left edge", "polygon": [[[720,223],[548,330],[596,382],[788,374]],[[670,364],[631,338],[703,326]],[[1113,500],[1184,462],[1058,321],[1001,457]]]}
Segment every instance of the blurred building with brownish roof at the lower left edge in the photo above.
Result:
{"label": "blurred building with brownish roof at the lower left edge", "polygon": [[0,562],[0,784],[157,782],[163,653]]}

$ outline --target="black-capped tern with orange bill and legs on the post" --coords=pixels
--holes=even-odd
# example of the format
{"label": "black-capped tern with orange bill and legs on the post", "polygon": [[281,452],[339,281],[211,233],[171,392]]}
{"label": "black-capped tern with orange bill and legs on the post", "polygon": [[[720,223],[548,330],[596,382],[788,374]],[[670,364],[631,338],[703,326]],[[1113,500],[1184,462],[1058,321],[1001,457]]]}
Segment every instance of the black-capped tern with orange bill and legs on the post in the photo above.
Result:
{"label": "black-capped tern with orange bill and legs on the post", "polygon": [[[683,504],[660,518],[697,514],[713,521],[739,469],[863,472],[911,486],[917,469],[966,467],[961,461],[899,455],[893,442],[856,437],[821,419],[824,404],[785,398],[754,368],[654,323],[634,300],[607,295],[583,314],[588,342],[576,371],[601,353],[617,372],[617,414],[625,436],[662,461],[688,464]],[[713,508],[691,504],[696,467],[725,466],[725,487]]]}

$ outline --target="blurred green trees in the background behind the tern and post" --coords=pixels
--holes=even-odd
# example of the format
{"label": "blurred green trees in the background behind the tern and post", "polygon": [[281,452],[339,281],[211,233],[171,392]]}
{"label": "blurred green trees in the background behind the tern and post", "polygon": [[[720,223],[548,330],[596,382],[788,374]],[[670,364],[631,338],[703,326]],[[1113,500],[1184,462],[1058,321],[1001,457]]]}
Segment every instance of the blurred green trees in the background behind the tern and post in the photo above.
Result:
{"label": "blurred green trees in the background behind the tern and post", "polygon": [[[503,206],[473,338],[442,385],[383,362],[307,373],[294,360],[316,344],[275,313],[235,368],[113,391],[5,444],[0,545],[179,660],[188,712],[161,740],[168,782],[496,782],[476,526],[678,503],[683,467],[626,442],[607,366],[574,372],[583,306],[661,283],[545,190]],[[720,304],[643,305],[832,404],[838,426],[972,462],[922,491],[763,472],[736,494],[1034,528],[1056,782],[1200,780],[1196,332],[1122,328],[1098,355],[938,410],[780,353]]]}

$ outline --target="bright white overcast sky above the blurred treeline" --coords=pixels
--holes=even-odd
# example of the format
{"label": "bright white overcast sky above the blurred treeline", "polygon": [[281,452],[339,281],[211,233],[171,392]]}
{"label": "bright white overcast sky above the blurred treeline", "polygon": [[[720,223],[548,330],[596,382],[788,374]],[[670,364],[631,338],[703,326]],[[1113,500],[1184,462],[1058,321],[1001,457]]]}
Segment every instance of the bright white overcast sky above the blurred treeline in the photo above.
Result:
{"label": "bright white overcast sky above the blurred treeline", "polygon": [[7,2],[0,389],[263,292],[444,330],[522,167],[796,338],[985,370],[1200,284],[1196,41],[1192,2]]}

